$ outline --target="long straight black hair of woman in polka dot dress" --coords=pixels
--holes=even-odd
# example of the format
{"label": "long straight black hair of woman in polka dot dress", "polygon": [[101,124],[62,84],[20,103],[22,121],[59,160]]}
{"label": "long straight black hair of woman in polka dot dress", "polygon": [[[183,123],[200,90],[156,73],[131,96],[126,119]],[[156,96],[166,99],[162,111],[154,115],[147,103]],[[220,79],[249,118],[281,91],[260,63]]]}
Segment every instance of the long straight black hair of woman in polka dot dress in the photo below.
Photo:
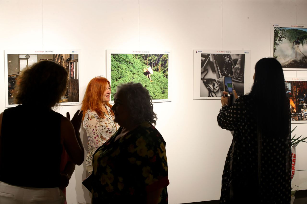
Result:
{"label": "long straight black hair of woman in polka dot dress", "polygon": [[282,65],[276,59],[262,58],[256,63],[250,95],[256,100],[262,134],[272,137],[288,134],[290,105]]}

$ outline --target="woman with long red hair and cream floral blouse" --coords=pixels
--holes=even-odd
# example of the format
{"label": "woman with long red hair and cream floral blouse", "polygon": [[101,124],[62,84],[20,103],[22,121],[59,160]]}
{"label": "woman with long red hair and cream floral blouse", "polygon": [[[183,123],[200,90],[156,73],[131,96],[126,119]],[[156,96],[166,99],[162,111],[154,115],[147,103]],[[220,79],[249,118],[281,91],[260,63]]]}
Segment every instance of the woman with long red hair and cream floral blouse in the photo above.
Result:
{"label": "woman with long red hair and cream floral blouse", "polygon": [[110,95],[110,82],[105,77],[96,76],[88,83],[82,101],[83,127],[88,138],[85,165],[90,175],[93,171],[92,157],[96,149],[119,128],[119,125],[114,122],[112,105],[109,104]]}

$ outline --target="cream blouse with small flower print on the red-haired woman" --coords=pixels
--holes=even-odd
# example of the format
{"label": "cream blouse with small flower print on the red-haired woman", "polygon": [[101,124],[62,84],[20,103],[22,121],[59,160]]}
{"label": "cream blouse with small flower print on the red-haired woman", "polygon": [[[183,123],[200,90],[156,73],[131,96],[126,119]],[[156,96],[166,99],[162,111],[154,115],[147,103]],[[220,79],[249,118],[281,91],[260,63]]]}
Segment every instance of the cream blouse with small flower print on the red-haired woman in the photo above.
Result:
{"label": "cream blouse with small flower print on the red-haired woman", "polygon": [[92,157],[96,149],[103,145],[119,128],[114,122],[114,115],[111,114],[111,108],[107,105],[108,114],[104,113],[104,118],[92,110],[87,110],[83,120],[83,127],[86,130],[88,142],[88,151],[85,161],[86,166],[92,165]]}

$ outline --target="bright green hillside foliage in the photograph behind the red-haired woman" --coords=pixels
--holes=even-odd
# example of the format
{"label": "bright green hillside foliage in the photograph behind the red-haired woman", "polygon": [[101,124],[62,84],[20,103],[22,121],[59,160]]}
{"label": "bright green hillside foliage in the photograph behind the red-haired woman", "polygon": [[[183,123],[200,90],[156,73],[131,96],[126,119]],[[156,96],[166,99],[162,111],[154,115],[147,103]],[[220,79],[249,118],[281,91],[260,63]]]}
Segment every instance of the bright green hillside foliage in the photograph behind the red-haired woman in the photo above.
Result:
{"label": "bright green hillside foliage in the photograph behind the red-haired woman", "polygon": [[[151,80],[144,69],[151,66]],[[116,86],[130,81],[141,83],[153,99],[168,99],[169,58],[164,54],[111,54],[111,100]]]}

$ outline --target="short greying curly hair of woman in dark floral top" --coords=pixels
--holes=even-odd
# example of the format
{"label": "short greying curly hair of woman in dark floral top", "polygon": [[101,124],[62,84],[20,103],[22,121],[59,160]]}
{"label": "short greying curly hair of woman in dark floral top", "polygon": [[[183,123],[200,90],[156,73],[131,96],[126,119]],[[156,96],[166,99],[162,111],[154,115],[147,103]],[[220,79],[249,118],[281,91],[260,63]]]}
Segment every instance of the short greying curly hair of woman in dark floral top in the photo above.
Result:
{"label": "short greying curly hair of woman in dark floral top", "polygon": [[117,86],[116,94],[127,99],[127,107],[131,111],[134,123],[150,122],[156,125],[157,115],[153,112],[152,96],[140,83],[129,82]]}

